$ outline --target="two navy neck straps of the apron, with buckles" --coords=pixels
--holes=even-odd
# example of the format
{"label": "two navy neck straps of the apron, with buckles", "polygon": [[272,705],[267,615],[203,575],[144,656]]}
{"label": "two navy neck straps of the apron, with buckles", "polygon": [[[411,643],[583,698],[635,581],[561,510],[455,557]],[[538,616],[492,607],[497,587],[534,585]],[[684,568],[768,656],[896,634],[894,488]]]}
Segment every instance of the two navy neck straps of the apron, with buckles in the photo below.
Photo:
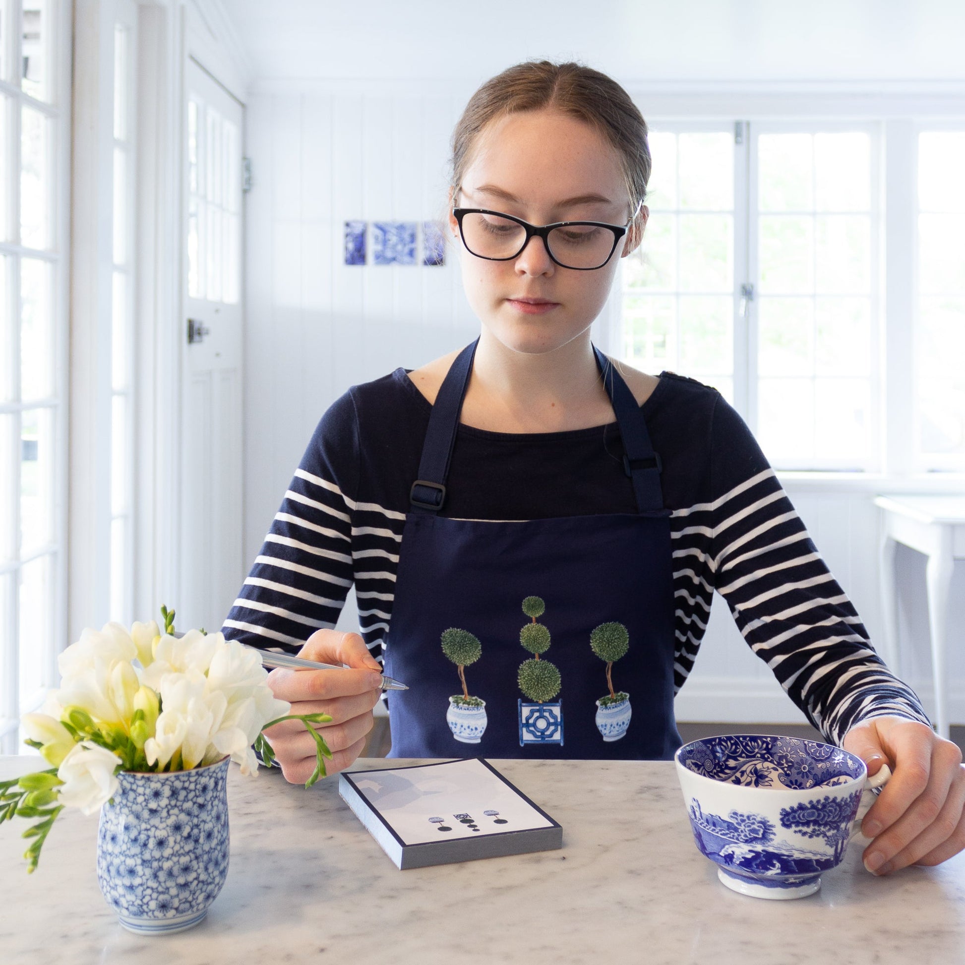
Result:
{"label": "two navy neck straps of the apron, with buckles", "polygon": [[[443,379],[428,418],[426,441],[419,462],[419,479],[412,483],[409,502],[413,512],[437,513],[446,499],[446,480],[455,447],[462,400],[469,385],[479,338],[455,357]],[[653,452],[647,423],[626,382],[610,360],[593,345],[596,365],[613,405],[623,440],[623,471],[633,480],[640,512],[663,510],[660,456]]]}

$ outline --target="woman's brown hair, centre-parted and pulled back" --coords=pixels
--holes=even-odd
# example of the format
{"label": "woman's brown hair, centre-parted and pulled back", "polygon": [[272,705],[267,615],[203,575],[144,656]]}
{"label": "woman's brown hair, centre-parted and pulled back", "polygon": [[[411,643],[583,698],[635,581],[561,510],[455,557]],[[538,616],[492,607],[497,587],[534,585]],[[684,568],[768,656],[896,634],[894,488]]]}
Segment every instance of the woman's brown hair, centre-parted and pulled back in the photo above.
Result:
{"label": "woman's brown hair, centre-parted and pulled back", "polygon": [[[616,150],[631,213],[638,212],[647,197],[650,178],[647,122],[612,77],[572,61],[515,64],[491,77],[469,98],[453,131],[449,186],[454,190],[459,187],[477,140],[490,122],[543,109],[561,111],[591,124]],[[448,233],[444,236],[448,239]]]}

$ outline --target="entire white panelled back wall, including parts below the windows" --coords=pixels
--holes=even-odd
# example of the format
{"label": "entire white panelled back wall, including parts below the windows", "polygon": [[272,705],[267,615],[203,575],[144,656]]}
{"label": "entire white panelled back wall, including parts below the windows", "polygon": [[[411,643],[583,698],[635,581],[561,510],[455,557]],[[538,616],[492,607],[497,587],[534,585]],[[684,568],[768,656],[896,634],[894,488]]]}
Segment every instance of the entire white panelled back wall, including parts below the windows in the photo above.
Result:
{"label": "entire white panelled back wall, including parts below the windows", "polygon": [[[350,385],[416,368],[479,332],[457,253],[443,267],[345,265],[346,220],[423,221],[444,210],[448,141],[471,92],[256,93],[246,115],[252,189],[245,202],[244,565],[254,560],[317,421]],[[371,247],[370,247],[371,261]],[[611,304],[614,303],[611,299]],[[609,308],[609,307],[608,307]],[[616,319],[594,323],[611,350]],[[684,373],[685,374],[685,373]],[[859,492],[788,495],[831,571],[880,640],[878,519]],[[924,563],[899,547],[904,676],[931,710]],[[965,721],[965,572],[950,617],[951,718]],[[356,625],[350,594],[340,627]],[[957,644],[957,646],[956,646]],[[723,599],[676,700],[684,721],[803,722],[747,647]]]}

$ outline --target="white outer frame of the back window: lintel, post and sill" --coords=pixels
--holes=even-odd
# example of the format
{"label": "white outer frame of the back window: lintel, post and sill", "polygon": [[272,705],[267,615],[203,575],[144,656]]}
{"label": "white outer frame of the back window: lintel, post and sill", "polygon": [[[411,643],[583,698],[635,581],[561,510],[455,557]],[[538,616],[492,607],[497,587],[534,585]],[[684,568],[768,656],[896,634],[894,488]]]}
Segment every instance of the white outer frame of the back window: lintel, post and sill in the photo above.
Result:
{"label": "white outer frame of the back window: lintel, post and sill", "polygon": [[[786,82],[721,83],[707,91],[702,82],[628,87],[648,124],[684,123],[692,119],[793,121],[854,119],[880,124],[883,175],[881,223],[887,244],[879,260],[883,301],[881,461],[869,472],[778,471],[790,492],[960,493],[965,471],[923,472],[915,460],[913,321],[914,258],[917,248],[917,129],[934,129],[939,122],[965,125],[965,85],[946,82]],[[736,203],[736,199],[735,199]],[[622,265],[620,266],[622,268]],[[903,273],[903,274],[902,274]],[[618,279],[615,293],[622,291]],[[611,298],[601,319],[601,344],[622,345],[620,301]],[[735,341],[737,333],[734,333]],[[747,360],[756,350],[747,345]],[[737,372],[734,397],[739,400]],[[738,409],[739,410],[739,409]],[[745,410],[746,411],[746,410]],[[742,415],[744,413],[742,412]],[[766,454],[765,454],[766,455]]]}

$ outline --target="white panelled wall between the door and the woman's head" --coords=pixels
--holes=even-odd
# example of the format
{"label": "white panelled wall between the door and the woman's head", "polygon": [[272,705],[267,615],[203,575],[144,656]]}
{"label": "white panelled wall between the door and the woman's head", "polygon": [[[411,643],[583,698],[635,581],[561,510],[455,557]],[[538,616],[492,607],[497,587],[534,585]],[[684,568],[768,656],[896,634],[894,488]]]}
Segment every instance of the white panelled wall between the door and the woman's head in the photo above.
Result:
{"label": "white panelled wall between the door and the woman's head", "polygon": [[345,265],[343,252],[345,221],[441,216],[448,141],[464,103],[465,96],[351,93],[249,99],[248,563],[332,401],[350,385],[417,368],[479,334],[452,246],[444,266]]}

